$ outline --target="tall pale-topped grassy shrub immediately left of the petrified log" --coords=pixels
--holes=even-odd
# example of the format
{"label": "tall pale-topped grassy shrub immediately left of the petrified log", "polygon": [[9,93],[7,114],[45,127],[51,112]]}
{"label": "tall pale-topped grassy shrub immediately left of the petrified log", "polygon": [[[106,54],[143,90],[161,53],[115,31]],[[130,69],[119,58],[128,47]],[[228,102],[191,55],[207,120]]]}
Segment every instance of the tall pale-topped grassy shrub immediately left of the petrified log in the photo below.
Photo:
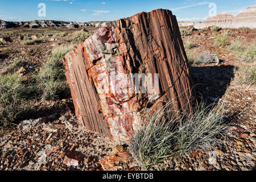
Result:
{"label": "tall pale-topped grassy shrub immediately left of the petrified log", "polygon": [[43,99],[53,100],[59,96],[67,96],[69,87],[65,78],[65,68],[61,59],[73,46],[59,46],[52,50],[49,58],[38,74],[39,89],[43,90]]}

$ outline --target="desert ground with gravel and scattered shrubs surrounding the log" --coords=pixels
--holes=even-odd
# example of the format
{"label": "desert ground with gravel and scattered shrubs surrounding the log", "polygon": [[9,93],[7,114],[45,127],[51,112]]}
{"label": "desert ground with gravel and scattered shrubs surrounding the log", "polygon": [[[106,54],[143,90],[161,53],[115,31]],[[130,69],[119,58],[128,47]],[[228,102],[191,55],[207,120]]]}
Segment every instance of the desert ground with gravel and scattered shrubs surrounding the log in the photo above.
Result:
{"label": "desert ground with gravel and scattered shrubs surrounding the log", "polygon": [[[94,27],[0,30],[1,37],[10,38],[0,42],[0,90],[5,93],[0,96],[0,118],[5,116],[0,170],[144,169],[130,146],[118,146],[77,122],[61,59],[95,31]],[[180,32],[197,97],[208,104],[225,101],[228,127],[213,146],[215,163],[210,163],[211,151],[199,149],[147,169],[255,169],[256,30],[180,27]],[[12,89],[6,93],[8,87]],[[117,162],[101,160],[109,156]],[[76,160],[71,164],[69,159]]]}

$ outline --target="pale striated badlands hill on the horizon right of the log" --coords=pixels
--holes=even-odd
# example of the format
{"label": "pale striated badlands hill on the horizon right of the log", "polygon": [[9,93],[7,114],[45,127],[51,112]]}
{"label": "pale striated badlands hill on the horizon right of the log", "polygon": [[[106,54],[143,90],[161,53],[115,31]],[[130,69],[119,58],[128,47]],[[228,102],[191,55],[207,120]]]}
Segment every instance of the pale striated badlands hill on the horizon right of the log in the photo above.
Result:
{"label": "pale striated badlands hill on the horizon right of the log", "polygon": [[205,28],[214,25],[222,28],[256,28],[256,5],[248,7],[237,16],[228,13],[217,14],[206,19],[203,23],[195,23],[195,28]]}

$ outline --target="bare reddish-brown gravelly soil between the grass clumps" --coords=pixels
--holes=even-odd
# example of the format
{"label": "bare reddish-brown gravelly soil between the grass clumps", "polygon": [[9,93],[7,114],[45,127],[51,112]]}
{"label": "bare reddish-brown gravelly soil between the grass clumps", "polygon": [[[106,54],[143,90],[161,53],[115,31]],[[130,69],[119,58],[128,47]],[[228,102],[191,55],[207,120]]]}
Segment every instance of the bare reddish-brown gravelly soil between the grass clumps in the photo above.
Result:
{"label": "bare reddish-brown gravelly soil between the grass clumps", "polygon": [[[56,44],[67,44],[65,38],[50,41],[49,37],[43,43],[24,46],[16,40],[19,35],[51,33],[47,32],[48,29],[30,33],[25,32],[27,29],[11,31],[13,32],[0,31],[0,34],[8,34],[14,40],[0,45],[1,51],[3,48],[11,49],[10,52],[0,52],[1,71],[16,56],[20,56],[28,61],[28,65],[39,69],[47,60],[47,50]],[[69,31],[71,34],[73,30]],[[214,45],[214,34],[221,34],[221,31],[192,31],[190,36],[183,37],[183,41],[195,42],[196,47],[190,52],[197,55],[201,52],[209,52],[218,55],[221,60],[218,65],[215,63],[192,65],[191,71],[198,97],[209,103],[216,99],[220,102],[226,101],[225,115],[229,126],[226,137],[220,139],[220,143],[214,146],[213,151],[199,150],[188,156],[174,156],[159,163],[159,167],[152,167],[150,170],[255,169],[255,86],[238,85],[234,82],[233,69],[241,67],[242,63],[240,57],[234,55],[228,46]],[[233,29],[232,31],[233,35],[229,37],[229,42],[240,40],[244,46],[248,46],[255,40],[256,30]],[[27,50],[32,53],[26,53]],[[32,75],[33,72],[30,74]],[[92,133],[79,125],[74,116],[71,98],[56,101],[38,100],[34,107],[37,108],[36,113],[27,115],[27,121],[21,122],[23,125],[1,128],[0,170],[142,169],[127,151],[129,147],[118,146],[103,135]],[[35,123],[35,126],[22,129],[28,126],[28,123]]]}

